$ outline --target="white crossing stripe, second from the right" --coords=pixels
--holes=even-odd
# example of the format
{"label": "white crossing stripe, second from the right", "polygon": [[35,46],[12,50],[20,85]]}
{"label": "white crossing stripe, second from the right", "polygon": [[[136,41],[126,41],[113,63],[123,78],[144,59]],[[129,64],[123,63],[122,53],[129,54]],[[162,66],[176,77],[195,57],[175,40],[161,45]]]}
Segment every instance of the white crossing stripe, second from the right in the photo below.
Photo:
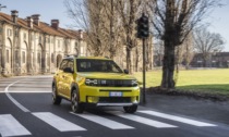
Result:
{"label": "white crossing stripe, second from the right", "polygon": [[167,124],[167,123],[161,123],[161,122],[154,121],[154,120],[150,120],[150,119],[145,119],[145,117],[142,117],[142,116],[137,116],[137,115],[134,115],[134,114],[123,113],[123,112],[120,112],[120,111],[107,111],[107,112],[111,113],[111,114],[114,114],[117,116],[123,117],[123,119],[128,119],[128,120],[131,120],[131,121],[134,121],[134,122],[137,122],[137,123],[142,123],[142,124],[145,124],[145,125],[157,127],[157,128],[178,127],[178,126],[170,125],[170,124]]}

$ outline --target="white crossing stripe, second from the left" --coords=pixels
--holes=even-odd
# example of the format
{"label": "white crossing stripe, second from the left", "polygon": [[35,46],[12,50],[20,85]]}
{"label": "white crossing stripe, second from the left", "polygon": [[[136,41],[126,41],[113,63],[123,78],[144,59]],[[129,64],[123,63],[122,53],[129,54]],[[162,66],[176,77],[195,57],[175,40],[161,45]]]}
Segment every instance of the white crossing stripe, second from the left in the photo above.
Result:
{"label": "white crossing stripe, second from the left", "polygon": [[33,113],[36,117],[43,120],[47,124],[51,125],[60,132],[73,132],[73,130],[86,130],[85,128],[75,125],[60,116],[57,116],[50,112],[35,112]]}

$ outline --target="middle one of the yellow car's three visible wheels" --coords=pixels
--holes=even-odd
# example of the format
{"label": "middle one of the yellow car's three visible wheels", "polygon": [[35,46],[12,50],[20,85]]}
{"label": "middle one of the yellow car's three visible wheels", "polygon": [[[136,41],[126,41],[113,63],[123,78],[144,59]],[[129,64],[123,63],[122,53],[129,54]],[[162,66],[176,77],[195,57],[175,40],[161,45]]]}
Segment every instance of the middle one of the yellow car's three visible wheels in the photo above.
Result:
{"label": "middle one of the yellow car's three visible wheels", "polygon": [[76,89],[74,89],[72,91],[72,96],[71,96],[72,111],[74,113],[83,113],[83,111],[84,111],[84,105],[79,102],[79,99],[80,99],[79,94],[77,94]]}

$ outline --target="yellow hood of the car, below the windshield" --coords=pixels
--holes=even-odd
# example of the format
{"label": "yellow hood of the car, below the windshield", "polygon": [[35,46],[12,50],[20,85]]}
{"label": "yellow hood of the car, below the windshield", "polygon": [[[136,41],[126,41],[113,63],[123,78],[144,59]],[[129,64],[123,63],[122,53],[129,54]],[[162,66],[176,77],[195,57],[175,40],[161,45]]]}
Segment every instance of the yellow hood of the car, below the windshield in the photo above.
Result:
{"label": "yellow hood of the car, below the windshield", "polygon": [[98,79],[135,79],[134,76],[124,73],[77,73],[81,77]]}

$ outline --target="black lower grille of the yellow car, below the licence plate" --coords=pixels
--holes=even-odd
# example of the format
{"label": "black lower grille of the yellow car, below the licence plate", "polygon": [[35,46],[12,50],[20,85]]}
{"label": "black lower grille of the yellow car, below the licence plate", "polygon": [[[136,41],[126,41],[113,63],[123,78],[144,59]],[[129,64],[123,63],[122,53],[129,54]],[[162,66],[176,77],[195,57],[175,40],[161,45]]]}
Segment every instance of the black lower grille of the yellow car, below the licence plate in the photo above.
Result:
{"label": "black lower grille of the yellow car, below the licence plate", "polygon": [[100,97],[100,103],[124,103],[131,102],[131,97]]}

